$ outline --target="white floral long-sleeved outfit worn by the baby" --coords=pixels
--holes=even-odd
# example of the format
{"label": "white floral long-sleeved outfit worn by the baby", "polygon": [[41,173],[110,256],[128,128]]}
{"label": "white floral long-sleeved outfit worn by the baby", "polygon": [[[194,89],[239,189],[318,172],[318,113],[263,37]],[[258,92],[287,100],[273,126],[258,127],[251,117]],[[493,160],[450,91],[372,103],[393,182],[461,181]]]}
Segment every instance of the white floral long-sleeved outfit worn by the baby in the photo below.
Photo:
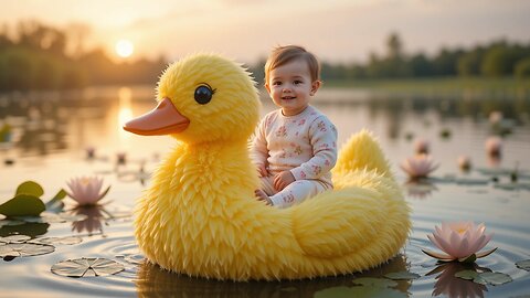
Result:
{"label": "white floral long-sleeved outfit worn by the baby", "polygon": [[[268,177],[262,178],[262,188],[275,206],[290,206],[332,189],[330,170],[337,162],[337,129],[312,106],[295,116],[284,116],[282,109],[267,114],[251,152],[255,164],[267,166]],[[295,182],[276,192],[274,177],[287,170]]]}

